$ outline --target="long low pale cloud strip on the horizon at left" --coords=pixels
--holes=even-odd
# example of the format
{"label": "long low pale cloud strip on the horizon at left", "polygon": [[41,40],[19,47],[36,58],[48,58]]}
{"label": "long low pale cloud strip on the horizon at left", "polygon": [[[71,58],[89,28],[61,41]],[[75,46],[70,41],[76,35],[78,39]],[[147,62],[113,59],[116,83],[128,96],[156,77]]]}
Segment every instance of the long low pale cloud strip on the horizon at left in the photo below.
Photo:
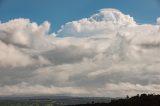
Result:
{"label": "long low pale cloud strip on the horizon at left", "polygon": [[30,85],[28,83],[22,82],[20,84],[16,85],[6,85],[3,87],[0,87],[0,95],[2,96],[27,96],[27,95],[58,95],[60,93],[64,95],[82,95],[86,94],[87,92],[83,89],[79,88],[73,88],[73,87],[55,87],[50,86],[46,87],[43,85]]}

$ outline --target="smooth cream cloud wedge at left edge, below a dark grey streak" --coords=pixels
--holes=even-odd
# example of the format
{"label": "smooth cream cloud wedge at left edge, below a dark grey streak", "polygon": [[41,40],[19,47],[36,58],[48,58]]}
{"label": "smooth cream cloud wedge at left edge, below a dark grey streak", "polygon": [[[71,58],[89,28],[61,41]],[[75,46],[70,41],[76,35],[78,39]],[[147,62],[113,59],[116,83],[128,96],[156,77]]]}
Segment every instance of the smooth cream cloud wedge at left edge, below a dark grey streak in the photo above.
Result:
{"label": "smooth cream cloud wedge at left edge, below a dark grey streak", "polygon": [[[23,60],[23,61],[22,61]],[[16,67],[26,66],[33,63],[33,60],[24,53],[20,52],[12,45],[6,45],[0,42],[0,66],[1,67]]]}

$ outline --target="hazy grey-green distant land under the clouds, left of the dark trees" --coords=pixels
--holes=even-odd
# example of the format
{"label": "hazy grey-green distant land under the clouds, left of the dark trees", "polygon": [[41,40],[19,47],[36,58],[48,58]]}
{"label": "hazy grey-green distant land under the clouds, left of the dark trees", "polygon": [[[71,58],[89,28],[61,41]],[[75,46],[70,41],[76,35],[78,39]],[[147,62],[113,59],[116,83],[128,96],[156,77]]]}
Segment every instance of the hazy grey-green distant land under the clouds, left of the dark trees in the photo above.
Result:
{"label": "hazy grey-green distant land under the clouds, left of the dark trees", "polygon": [[70,96],[13,96],[0,97],[0,106],[67,106],[87,103],[108,103],[108,97],[70,97]]}

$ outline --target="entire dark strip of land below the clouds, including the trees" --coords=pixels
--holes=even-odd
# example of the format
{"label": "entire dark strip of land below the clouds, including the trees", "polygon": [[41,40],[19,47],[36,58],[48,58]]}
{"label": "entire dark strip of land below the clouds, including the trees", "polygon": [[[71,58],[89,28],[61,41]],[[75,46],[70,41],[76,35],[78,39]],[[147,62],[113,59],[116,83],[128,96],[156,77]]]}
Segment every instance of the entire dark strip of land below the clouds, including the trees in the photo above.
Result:
{"label": "entire dark strip of land below the clouds, including the trees", "polygon": [[35,96],[0,98],[0,106],[159,106],[160,95],[137,94],[125,98]]}

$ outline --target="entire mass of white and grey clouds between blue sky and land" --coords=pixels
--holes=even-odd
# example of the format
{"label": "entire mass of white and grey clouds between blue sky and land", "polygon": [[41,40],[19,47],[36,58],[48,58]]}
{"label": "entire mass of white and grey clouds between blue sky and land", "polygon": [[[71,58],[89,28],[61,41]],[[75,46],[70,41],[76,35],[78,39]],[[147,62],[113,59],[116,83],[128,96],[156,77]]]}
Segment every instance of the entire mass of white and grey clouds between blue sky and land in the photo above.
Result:
{"label": "entire mass of white and grey clouds between blue sky and land", "polygon": [[[156,20],[155,20],[156,21]],[[0,24],[0,95],[125,96],[159,93],[160,25],[116,9],[68,22]]]}

